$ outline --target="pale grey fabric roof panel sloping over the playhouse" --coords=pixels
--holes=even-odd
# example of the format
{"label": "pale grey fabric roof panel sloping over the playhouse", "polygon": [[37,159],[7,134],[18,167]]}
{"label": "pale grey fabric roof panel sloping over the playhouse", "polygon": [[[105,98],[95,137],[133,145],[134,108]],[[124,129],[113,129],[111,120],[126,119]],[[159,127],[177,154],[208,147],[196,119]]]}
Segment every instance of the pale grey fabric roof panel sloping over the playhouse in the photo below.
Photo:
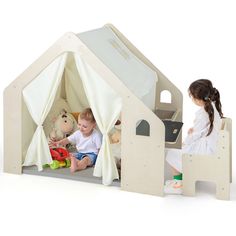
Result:
{"label": "pale grey fabric roof panel sloping over the playhouse", "polygon": [[[154,109],[156,72],[136,57],[110,27],[104,26],[77,36],[132,93]],[[152,104],[143,98],[150,92],[153,93]]]}

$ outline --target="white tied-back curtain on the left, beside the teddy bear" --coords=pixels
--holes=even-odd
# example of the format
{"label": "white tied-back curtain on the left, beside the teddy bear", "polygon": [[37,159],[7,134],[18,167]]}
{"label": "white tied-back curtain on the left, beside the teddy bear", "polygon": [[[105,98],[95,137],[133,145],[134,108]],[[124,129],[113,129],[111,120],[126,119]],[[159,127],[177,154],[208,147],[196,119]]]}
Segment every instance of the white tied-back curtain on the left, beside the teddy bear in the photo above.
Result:
{"label": "white tied-back curtain on the left, beside the teddy bear", "polygon": [[43,122],[50,111],[65,67],[67,53],[47,66],[23,90],[23,98],[29,113],[37,125],[26,153],[24,166],[37,165],[41,171],[44,164],[52,162]]}

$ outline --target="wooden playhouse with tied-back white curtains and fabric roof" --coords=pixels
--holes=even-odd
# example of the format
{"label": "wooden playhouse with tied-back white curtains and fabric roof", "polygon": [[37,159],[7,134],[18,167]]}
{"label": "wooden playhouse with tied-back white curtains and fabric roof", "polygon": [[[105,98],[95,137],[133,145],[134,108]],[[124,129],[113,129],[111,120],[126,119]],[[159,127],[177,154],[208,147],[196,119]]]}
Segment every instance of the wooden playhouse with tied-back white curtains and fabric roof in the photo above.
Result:
{"label": "wooden playhouse with tied-back white curtains and fabric roof", "polygon": [[112,25],[66,33],[5,89],[5,172],[52,161],[45,120],[62,100],[71,111],[90,106],[102,132],[93,176],[119,179],[108,134],[121,117],[121,188],[163,195],[164,149],[179,148],[181,134],[165,142],[161,119],[182,121],[182,94]]}

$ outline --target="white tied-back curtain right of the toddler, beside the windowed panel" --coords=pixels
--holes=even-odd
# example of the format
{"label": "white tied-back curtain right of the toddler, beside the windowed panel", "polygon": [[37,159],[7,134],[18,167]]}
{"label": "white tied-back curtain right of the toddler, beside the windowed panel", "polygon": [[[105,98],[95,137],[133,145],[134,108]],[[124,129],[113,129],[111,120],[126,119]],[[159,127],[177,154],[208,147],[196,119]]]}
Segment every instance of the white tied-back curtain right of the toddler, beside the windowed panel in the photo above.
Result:
{"label": "white tied-back curtain right of the toddler, beside the windowed panel", "polygon": [[88,102],[103,135],[102,147],[97,157],[93,175],[102,177],[104,185],[110,185],[114,179],[119,179],[119,175],[111,153],[108,133],[120,115],[121,97],[80,55],[74,54],[74,57]]}

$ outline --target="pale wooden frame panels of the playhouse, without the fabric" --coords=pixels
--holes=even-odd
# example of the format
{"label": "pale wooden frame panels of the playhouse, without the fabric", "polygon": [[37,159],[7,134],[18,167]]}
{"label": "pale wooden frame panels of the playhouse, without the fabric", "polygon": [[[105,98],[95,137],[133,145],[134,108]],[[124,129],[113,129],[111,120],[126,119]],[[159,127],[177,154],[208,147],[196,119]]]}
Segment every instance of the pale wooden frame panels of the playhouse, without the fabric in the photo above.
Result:
{"label": "pale wooden frame panels of the playhouse, without the fabric", "polygon": [[[182,135],[180,132],[174,143],[165,142],[162,119],[182,121],[182,93],[113,25],[104,27],[109,28],[133,55],[156,73],[155,109],[145,106],[76,34],[66,33],[5,89],[4,171],[13,174],[22,174],[23,171],[22,90],[62,53],[79,53],[122,98],[121,189],[163,196],[165,147],[181,148]],[[161,94],[166,90],[171,94],[169,103],[161,101]],[[142,120],[149,126],[149,135],[136,133],[137,123]],[[230,140],[229,136],[226,142]]]}

